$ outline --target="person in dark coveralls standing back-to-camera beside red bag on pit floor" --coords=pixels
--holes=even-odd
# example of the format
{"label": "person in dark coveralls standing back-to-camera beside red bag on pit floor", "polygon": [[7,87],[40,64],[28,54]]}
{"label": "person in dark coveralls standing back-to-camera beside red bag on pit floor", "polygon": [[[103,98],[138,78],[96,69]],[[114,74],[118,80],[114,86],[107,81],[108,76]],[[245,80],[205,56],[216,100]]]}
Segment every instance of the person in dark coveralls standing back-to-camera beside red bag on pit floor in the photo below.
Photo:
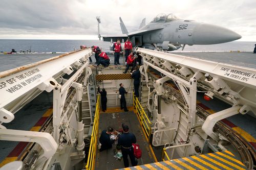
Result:
{"label": "person in dark coveralls standing back-to-camera beside red bag on pit floor", "polygon": [[118,137],[118,145],[121,145],[123,155],[124,167],[129,167],[128,155],[131,159],[132,165],[136,166],[138,161],[135,159],[133,151],[133,143],[136,143],[136,137],[133,133],[129,132],[129,127],[122,124],[123,133]]}

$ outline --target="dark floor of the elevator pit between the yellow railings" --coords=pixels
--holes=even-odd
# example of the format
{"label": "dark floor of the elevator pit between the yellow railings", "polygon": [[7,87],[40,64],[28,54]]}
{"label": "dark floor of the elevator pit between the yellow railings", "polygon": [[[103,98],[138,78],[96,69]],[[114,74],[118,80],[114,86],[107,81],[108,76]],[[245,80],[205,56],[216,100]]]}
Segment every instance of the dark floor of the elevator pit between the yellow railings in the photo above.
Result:
{"label": "dark floor of the elevator pit between the yellow railings", "polygon": [[[108,111],[108,110],[107,110]],[[129,112],[114,112],[114,113],[100,113],[99,119],[99,136],[102,130],[105,130],[106,127],[111,126],[114,130],[120,130],[121,124],[124,123],[129,126],[130,132],[134,133],[137,139],[137,143],[140,145],[140,149],[142,151],[142,157],[138,159],[138,165],[143,165],[147,163],[153,163],[154,158],[148,148],[148,144],[146,138],[143,134],[143,131],[140,127],[139,121],[137,119],[136,114],[133,111]],[[123,168],[123,159],[116,160],[114,158],[114,149],[116,145],[113,144],[113,148],[109,150],[105,150],[102,152],[97,151],[96,153],[96,161],[95,161],[95,169],[117,169]],[[128,156],[130,166],[131,160]]]}

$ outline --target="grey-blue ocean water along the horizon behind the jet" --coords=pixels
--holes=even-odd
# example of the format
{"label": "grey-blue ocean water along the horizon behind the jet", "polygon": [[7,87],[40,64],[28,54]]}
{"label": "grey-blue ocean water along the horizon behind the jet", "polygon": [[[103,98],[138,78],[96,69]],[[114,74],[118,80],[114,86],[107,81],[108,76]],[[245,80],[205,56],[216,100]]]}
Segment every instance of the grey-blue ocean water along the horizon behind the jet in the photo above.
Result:
{"label": "grey-blue ocean water along the horizon behind the jet", "polygon": [[[256,42],[233,41],[214,45],[186,45],[184,51],[241,51],[253,52]],[[0,52],[11,52],[14,48],[20,50],[30,50],[34,52],[71,52],[79,49],[80,45],[102,47],[103,51],[109,52],[110,42],[100,40],[0,40]],[[178,50],[181,51],[181,48]]]}

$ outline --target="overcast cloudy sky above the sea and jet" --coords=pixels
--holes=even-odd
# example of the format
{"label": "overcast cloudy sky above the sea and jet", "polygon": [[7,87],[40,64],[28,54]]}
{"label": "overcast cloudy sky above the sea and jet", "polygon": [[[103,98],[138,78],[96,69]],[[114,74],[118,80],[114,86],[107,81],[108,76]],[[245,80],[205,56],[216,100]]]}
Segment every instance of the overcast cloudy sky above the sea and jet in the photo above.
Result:
{"label": "overcast cloudy sky above the sea and jet", "polygon": [[215,24],[240,35],[239,41],[256,41],[255,0],[1,0],[0,39],[96,39],[120,34],[119,16],[129,32],[136,31],[158,13]]}

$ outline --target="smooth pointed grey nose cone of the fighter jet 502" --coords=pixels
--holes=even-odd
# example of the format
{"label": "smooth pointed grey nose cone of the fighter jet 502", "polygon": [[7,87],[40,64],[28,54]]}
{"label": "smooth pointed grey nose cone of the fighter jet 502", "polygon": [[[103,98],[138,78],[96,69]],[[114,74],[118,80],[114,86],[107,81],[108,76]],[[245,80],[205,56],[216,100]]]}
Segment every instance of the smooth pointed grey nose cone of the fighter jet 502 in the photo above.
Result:
{"label": "smooth pointed grey nose cone of the fighter jet 502", "polygon": [[229,29],[207,23],[196,26],[193,32],[193,42],[199,45],[224,43],[242,37]]}

